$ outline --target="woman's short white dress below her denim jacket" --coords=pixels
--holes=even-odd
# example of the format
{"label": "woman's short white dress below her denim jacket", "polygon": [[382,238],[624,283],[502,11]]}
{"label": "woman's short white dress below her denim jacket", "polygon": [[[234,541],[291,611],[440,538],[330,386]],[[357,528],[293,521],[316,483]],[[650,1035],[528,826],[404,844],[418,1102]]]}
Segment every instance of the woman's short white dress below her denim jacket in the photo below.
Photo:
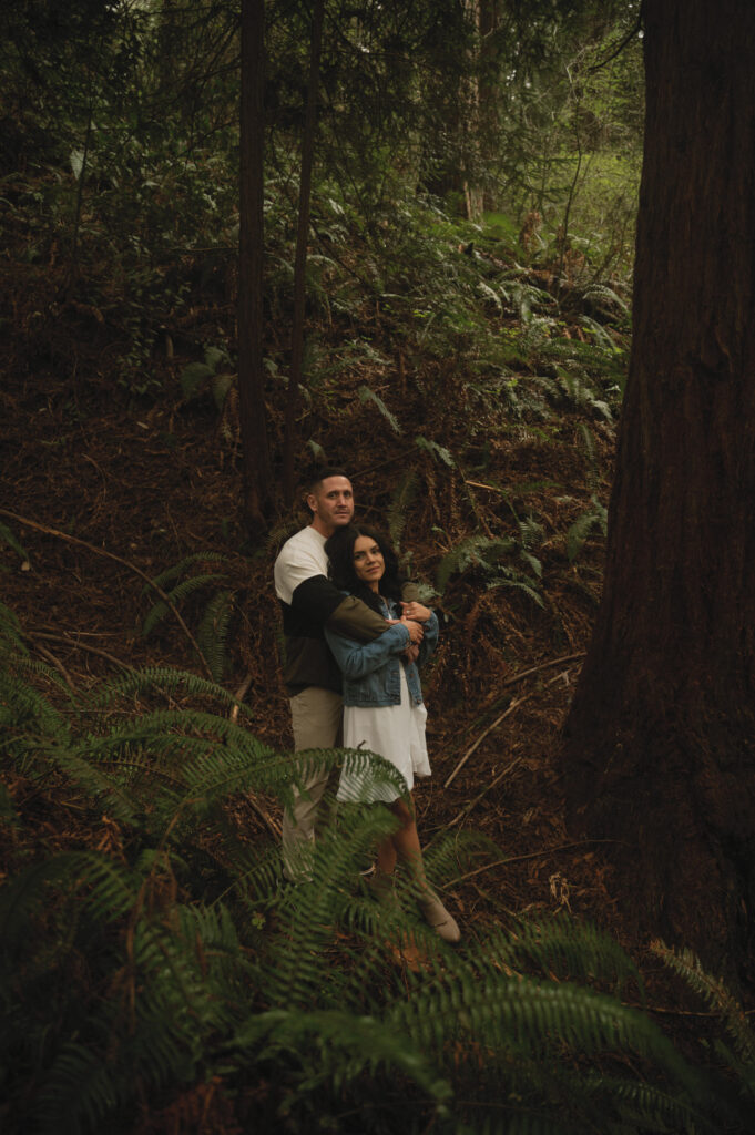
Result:
{"label": "woman's short white dress below her denim jacket", "polygon": [[[425,742],[426,721],[427,709],[412,701],[402,664],[401,705],[344,706],[344,747],[378,753],[395,765],[406,787],[411,789],[416,776],[430,775]],[[350,771],[346,765],[341,773],[338,800],[360,804],[375,804],[379,800],[391,804],[399,796],[393,785],[376,783],[375,776],[367,770]]]}

